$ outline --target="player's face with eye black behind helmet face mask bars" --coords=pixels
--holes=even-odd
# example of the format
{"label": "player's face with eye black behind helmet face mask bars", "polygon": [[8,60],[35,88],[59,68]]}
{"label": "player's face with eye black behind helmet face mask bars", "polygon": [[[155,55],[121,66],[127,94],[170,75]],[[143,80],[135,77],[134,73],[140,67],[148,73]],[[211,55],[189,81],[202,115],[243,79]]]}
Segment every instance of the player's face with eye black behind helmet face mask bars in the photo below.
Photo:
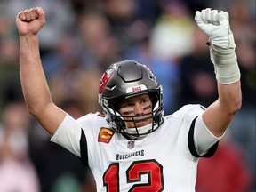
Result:
{"label": "player's face with eye black behind helmet face mask bars", "polygon": [[[125,122],[128,128],[135,127],[135,125],[136,127],[141,127],[151,124],[151,112],[152,101],[150,100],[148,94],[142,94],[122,100],[119,105],[119,113],[124,117],[124,121],[130,120],[130,122]],[[143,116],[145,114],[148,115]],[[134,122],[131,121],[131,116],[133,116]]]}

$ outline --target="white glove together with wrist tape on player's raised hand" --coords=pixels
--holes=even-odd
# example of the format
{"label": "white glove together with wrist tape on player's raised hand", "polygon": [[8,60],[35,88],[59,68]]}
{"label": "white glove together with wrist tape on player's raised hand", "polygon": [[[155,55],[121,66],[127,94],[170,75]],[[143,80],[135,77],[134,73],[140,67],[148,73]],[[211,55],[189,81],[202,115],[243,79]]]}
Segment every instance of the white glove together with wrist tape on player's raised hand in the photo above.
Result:
{"label": "white glove together with wrist tape on player's raised hand", "polygon": [[210,36],[210,55],[217,81],[221,84],[232,84],[239,80],[236,44],[230,30],[228,13],[207,8],[197,11],[195,20],[198,27]]}

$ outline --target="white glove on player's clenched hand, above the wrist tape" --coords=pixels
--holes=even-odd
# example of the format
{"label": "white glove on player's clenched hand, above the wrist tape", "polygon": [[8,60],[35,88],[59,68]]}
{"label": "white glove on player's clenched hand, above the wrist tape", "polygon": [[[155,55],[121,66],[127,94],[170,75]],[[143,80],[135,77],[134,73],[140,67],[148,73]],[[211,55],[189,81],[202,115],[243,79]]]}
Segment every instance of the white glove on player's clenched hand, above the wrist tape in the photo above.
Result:
{"label": "white glove on player's clenched hand, above the wrist tape", "polygon": [[212,44],[222,48],[236,47],[229,26],[228,12],[207,8],[201,12],[197,11],[195,20],[198,27],[210,36]]}

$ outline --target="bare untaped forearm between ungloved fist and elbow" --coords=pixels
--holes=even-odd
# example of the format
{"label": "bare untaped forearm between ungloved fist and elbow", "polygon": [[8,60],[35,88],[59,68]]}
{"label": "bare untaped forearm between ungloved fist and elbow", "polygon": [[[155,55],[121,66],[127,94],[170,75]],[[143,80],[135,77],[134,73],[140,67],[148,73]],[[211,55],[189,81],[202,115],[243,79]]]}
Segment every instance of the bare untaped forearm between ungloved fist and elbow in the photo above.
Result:
{"label": "bare untaped forearm between ungloved fist and elbow", "polygon": [[20,81],[30,113],[36,115],[52,103],[36,35],[20,36]]}

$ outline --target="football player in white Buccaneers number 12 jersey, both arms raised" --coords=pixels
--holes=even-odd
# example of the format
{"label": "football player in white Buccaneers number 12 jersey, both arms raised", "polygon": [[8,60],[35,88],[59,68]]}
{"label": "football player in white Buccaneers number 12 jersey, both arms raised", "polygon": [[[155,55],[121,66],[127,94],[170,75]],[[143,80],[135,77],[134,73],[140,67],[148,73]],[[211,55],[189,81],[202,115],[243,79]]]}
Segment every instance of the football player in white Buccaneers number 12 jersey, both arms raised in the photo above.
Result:
{"label": "football player in white Buccaneers number 12 jersey, both arms raised", "polygon": [[228,13],[197,11],[196,23],[210,36],[219,98],[208,108],[186,105],[164,116],[163,90],[156,76],[135,60],[113,63],[100,80],[100,113],[78,120],[51,98],[41,65],[37,34],[44,10],[21,11],[20,81],[29,112],[52,141],[92,170],[97,191],[195,191],[196,165],[210,157],[241,108],[240,72]]}

